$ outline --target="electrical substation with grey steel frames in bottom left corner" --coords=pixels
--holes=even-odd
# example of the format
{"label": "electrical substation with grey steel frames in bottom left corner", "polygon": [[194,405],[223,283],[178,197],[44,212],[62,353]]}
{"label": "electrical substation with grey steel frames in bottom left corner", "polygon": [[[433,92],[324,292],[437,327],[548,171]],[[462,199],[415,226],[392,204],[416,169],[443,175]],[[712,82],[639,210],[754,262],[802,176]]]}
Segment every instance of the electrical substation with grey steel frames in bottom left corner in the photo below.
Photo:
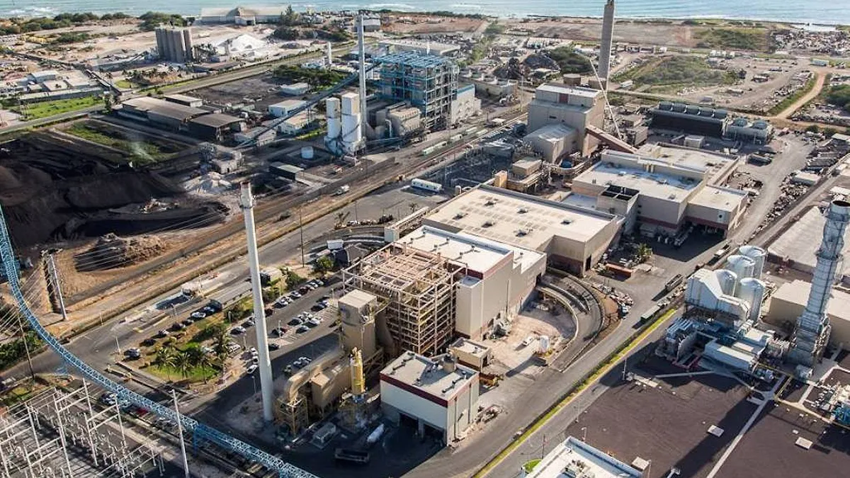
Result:
{"label": "electrical substation with grey steel frames in bottom left corner", "polygon": [[161,476],[155,441],[122,422],[118,400],[97,410],[88,384],[44,390],[0,416],[0,476]]}

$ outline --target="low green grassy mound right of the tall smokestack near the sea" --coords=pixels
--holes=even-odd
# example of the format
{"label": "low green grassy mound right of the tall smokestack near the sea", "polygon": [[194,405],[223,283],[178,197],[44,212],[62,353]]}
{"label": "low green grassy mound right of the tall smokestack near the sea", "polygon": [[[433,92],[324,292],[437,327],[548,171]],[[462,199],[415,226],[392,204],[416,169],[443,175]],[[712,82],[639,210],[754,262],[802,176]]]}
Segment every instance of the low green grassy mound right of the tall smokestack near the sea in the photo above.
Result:
{"label": "low green grassy mound right of the tall smokestack near the sea", "polygon": [[734,71],[711,68],[700,57],[667,56],[649,60],[643,65],[617,75],[616,81],[633,80],[638,85],[649,86],[649,91],[667,92],[685,87],[734,84],[738,77]]}

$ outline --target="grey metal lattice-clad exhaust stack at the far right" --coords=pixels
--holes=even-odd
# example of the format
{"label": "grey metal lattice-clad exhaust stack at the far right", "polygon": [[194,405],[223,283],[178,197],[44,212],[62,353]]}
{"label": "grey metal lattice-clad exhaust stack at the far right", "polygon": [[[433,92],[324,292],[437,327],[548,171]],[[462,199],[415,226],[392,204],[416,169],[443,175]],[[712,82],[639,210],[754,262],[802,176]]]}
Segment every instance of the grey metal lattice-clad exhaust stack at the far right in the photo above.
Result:
{"label": "grey metal lattice-clad exhaust stack at the far right", "polygon": [[824,238],[816,254],[818,264],[812,274],[812,289],[806,309],[797,319],[788,354],[790,361],[804,367],[813,367],[820,360],[830,339],[830,320],[826,310],[833,282],[841,273],[844,232],[850,223],[850,202],[830,202],[824,215]]}

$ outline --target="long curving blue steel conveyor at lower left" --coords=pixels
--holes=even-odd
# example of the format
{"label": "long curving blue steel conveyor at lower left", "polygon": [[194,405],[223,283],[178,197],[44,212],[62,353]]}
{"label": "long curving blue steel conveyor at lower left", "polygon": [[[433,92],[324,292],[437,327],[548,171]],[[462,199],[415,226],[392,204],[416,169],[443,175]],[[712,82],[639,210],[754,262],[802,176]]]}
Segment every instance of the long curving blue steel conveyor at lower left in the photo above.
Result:
{"label": "long curving blue steel conveyor at lower left", "polygon": [[164,407],[156,401],[145,398],[132,390],[125,389],[109,378],[106,378],[94,368],[89,367],[85,362],[77,358],[77,356],[74,356],[71,352],[66,350],[65,347],[59,343],[58,339],[48,333],[46,328],[42,327],[41,322],[38,322],[38,318],[32,313],[29,305],[26,304],[24,294],[20,289],[18,261],[14,257],[12,242],[9,240],[8,228],[2,208],[0,208],[0,259],[3,259],[3,271],[6,273],[6,277],[8,278],[9,289],[11,290],[15,301],[18,303],[20,313],[26,317],[26,320],[30,323],[32,330],[35,331],[38,336],[54,350],[54,352],[59,354],[65,363],[80,371],[84,378],[87,378],[89,381],[94,382],[94,384],[98,384],[105,390],[116,394],[119,401],[129,401],[136,407],[142,407],[149,410],[151,413],[155,413],[159,417],[166,418],[175,424],[179,420],[180,424],[183,425],[184,430],[191,431],[195,446],[203,441],[212,442],[218,447],[222,447],[231,452],[236,452],[245,458],[255,461],[258,464],[262,464],[267,469],[278,473],[280,478],[318,478],[317,476],[312,475],[303,469],[299,469],[292,464],[288,464],[282,459],[277,458],[270,453],[263,452],[263,450],[253,447],[244,441],[237,440],[230,435],[208,427],[205,424],[201,424],[194,418],[178,414],[171,408]]}

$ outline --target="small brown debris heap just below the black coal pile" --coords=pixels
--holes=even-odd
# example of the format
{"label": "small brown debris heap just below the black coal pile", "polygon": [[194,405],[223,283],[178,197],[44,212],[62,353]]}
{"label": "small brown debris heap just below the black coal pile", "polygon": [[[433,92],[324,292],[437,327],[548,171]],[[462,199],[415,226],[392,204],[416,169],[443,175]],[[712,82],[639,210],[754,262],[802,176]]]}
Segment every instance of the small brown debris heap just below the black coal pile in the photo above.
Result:
{"label": "small brown debris heap just below the black coal pile", "polygon": [[77,270],[107,270],[144,262],[165,250],[156,236],[124,238],[115,234],[101,236],[82,253],[74,256]]}

